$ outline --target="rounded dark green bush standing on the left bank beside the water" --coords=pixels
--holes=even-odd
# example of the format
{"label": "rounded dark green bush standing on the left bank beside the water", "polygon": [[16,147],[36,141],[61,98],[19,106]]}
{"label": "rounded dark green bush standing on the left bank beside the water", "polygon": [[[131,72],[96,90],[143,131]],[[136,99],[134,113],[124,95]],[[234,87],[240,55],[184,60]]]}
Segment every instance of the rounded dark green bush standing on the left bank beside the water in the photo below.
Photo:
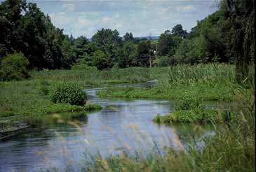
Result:
{"label": "rounded dark green bush standing on the left bank beside the water", "polygon": [[50,89],[50,100],[54,103],[83,106],[86,99],[86,92],[76,83],[59,83]]}

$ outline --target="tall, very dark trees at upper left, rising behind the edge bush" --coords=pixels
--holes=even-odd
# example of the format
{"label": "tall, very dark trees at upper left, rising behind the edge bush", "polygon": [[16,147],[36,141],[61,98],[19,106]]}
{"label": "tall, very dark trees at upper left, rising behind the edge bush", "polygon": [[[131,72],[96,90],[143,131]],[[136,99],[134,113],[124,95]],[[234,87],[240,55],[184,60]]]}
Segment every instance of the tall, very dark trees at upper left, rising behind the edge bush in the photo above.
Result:
{"label": "tall, very dark trees at upper left, rising behind the edge bush", "polygon": [[[62,52],[63,29],[53,26],[48,15],[23,0],[0,4],[0,57],[15,51],[29,60],[30,69],[68,67]],[[67,53],[66,53],[67,55]]]}

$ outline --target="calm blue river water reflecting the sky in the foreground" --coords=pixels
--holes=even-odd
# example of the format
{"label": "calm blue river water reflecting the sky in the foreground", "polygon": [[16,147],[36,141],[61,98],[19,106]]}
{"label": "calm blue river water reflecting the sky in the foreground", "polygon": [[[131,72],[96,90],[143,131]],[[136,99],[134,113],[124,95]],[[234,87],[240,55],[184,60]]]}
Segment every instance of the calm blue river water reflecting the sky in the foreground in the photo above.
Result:
{"label": "calm blue river water reflecting the sky in the foreground", "polygon": [[198,145],[201,137],[213,134],[210,127],[160,126],[152,122],[157,113],[173,111],[173,102],[101,99],[95,94],[97,89],[86,89],[86,92],[89,101],[102,105],[101,111],[87,117],[56,114],[47,119],[34,119],[36,127],[32,131],[0,142],[0,171],[38,171],[53,166],[63,168],[67,164],[80,166],[84,152],[106,157],[122,151],[147,153],[156,145],[180,149],[186,147],[191,134],[196,134]]}

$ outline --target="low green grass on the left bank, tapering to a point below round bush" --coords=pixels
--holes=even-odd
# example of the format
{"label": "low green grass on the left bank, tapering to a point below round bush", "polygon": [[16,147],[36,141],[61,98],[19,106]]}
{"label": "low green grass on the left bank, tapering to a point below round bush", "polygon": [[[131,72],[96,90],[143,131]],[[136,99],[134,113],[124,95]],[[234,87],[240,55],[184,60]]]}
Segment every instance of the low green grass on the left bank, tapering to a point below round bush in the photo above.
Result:
{"label": "low green grass on the left bank, tapering to a point below round bush", "polygon": [[[48,96],[48,87],[53,83],[41,80],[22,80],[0,84],[0,130],[15,127],[15,122],[25,117],[45,116],[64,112],[89,112],[99,110],[100,105],[86,103],[75,106],[53,103]],[[8,125],[8,127],[6,127]]]}

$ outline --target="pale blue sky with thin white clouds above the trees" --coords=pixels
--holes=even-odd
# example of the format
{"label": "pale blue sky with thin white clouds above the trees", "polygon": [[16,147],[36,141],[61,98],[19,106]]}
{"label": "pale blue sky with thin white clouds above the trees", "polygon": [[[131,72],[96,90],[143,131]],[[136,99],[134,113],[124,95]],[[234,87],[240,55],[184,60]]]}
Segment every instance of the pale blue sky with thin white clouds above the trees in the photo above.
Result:
{"label": "pale blue sky with thin white clouds above the trees", "polygon": [[90,38],[98,29],[123,36],[159,36],[182,24],[190,31],[197,20],[217,10],[216,0],[28,0],[50,15],[65,34]]}

